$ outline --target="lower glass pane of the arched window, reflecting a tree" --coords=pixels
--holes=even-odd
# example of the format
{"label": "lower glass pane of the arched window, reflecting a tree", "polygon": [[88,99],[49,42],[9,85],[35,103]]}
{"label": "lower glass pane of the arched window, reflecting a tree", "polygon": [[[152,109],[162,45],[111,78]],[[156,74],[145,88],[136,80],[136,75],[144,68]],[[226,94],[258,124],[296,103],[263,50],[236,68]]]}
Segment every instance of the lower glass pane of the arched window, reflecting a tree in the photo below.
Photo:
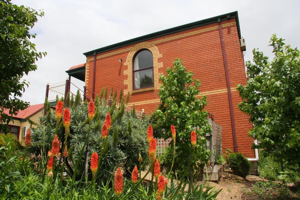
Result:
{"label": "lower glass pane of the arched window, reflecting a tree", "polygon": [[153,69],[134,72],[134,89],[153,86]]}

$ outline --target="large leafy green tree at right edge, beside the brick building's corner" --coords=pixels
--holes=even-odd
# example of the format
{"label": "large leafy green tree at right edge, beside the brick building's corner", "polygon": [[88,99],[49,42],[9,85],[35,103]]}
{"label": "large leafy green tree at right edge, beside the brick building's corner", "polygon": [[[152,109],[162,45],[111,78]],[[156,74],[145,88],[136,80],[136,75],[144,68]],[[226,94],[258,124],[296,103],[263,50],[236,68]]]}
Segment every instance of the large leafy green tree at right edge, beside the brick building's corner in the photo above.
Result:
{"label": "large leafy green tree at right edge, beside the brick building's corner", "polygon": [[239,109],[250,115],[249,135],[275,161],[300,166],[300,53],[273,35],[275,57],[268,61],[258,49],[246,62],[247,85],[238,85]]}

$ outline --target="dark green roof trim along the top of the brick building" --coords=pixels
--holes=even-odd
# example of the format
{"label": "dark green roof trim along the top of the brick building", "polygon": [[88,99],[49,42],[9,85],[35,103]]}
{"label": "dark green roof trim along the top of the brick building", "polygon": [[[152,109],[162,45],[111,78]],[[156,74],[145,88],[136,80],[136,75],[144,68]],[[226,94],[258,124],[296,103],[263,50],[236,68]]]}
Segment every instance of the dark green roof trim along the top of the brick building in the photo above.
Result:
{"label": "dark green roof trim along the top of the brick building", "polygon": [[158,31],[158,32],[155,32],[155,33],[151,33],[151,34],[147,34],[147,35],[144,35],[144,36],[136,37],[136,38],[133,38],[133,39],[130,39],[130,40],[126,40],[126,41],[123,41],[123,42],[119,42],[119,43],[116,43],[116,44],[112,44],[112,45],[105,46],[105,47],[102,47],[102,48],[99,48],[99,49],[95,49],[95,50],[92,50],[92,51],[85,52],[85,53],[83,53],[83,55],[85,55],[87,57],[87,56],[94,55],[94,53],[96,53],[96,54],[103,53],[103,52],[107,52],[107,51],[110,51],[110,50],[113,50],[113,49],[118,49],[118,48],[121,48],[121,47],[124,47],[124,46],[128,46],[128,45],[131,45],[131,44],[143,42],[143,41],[146,41],[146,40],[151,40],[151,39],[154,39],[154,38],[157,38],[157,37],[162,37],[162,36],[170,35],[170,34],[173,34],[173,33],[178,33],[178,32],[181,32],[181,31],[192,29],[192,28],[198,28],[200,26],[205,26],[205,25],[216,23],[216,22],[218,22],[218,19],[220,19],[221,22],[225,21],[225,20],[228,20],[228,19],[235,19],[237,29],[238,29],[238,37],[239,37],[239,39],[241,39],[240,25],[239,25],[239,22],[238,22],[238,11],[235,11],[235,12],[232,12],[232,13],[227,13],[227,14],[215,16],[215,17],[211,17],[211,18],[208,18],[208,19],[203,19],[203,20],[200,20],[200,21],[197,21],[197,22],[192,22],[192,23],[189,23],[189,24],[176,26],[174,28],[169,28],[169,29],[166,29],[166,30],[163,30],[163,31]]}

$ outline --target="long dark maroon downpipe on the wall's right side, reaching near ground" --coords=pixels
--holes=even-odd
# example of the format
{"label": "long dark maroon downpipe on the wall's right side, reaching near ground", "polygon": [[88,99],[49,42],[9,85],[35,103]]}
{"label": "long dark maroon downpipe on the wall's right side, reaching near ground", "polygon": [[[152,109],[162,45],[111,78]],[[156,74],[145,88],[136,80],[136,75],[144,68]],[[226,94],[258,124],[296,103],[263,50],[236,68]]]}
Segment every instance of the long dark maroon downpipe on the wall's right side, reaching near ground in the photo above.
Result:
{"label": "long dark maroon downpipe on the wall's right side, reaching near ground", "polygon": [[224,68],[225,68],[225,75],[226,75],[226,84],[227,84],[230,118],[231,118],[231,127],[232,127],[233,147],[234,147],[234,152],[238,152],[238,144],[237,144],[237,141],[236,141],[234,113],[233,113],[233,105],[232,105],[232,94],[231,94],[231,90],[230,90],[229,72],[228,72],[227,58],[226,58],[226,52],[225,52],[225,44],[224,44],[224,38],[223,38],[222,25],[221,25],[220,18],[218,19],[218,24],[219,24],[220,40],[221,40],[221,45],[222,45]]}

